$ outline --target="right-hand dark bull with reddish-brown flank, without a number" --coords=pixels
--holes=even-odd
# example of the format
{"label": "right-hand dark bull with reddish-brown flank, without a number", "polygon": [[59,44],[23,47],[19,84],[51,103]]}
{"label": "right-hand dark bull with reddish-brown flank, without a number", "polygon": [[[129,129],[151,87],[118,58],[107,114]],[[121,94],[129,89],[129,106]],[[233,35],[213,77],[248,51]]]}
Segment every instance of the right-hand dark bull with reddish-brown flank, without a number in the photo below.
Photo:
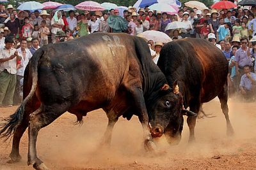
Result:
{"label": "right-hand dark bull with reddish-brown flank, without a number", "polygon": [[[221,50],[204,39],[186,38],[172,41],[163,46],[157,66],[163,71],[169,85],[179,84],[184,108],[189,107],[189,110],[198,113],[202,103],[207,103],[218,96],[227,121],[227,134],[233,134],[227,105],[228,63]],[[156,121],[150,121],[150,125],[153,131],[157,129],[152,133],[154,136],[160,137],[164,132],[170,144],[177,144],[181,138],[184,119],[175,110],[176,99],[171,101],[173,111],[166,116],[166,119],[170,120],[167,127],[158,122],[161,114],[154,114],[150,119]],[[159,110],[159,113],[162,112]],[[188,117],[187,123],[189,141],[193,141],[196,117]]]}

